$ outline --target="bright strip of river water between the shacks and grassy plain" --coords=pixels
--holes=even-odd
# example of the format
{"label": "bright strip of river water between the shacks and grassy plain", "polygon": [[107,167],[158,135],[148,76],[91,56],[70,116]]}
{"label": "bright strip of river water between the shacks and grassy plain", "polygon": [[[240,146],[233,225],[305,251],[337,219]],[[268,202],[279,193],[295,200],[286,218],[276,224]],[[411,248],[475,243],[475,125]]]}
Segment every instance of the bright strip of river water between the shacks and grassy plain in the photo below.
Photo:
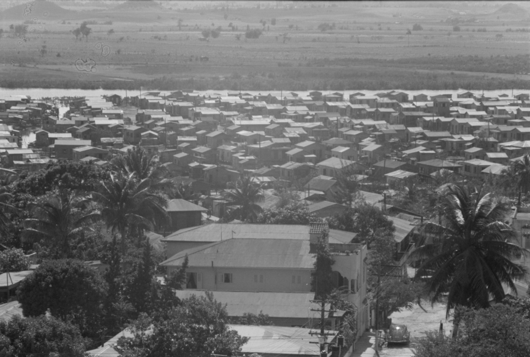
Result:
{"label": "bright strip of river water between the shacks and grassy plain", "polygon": [[[363,92],[366,95],[373,95],[375,93],[379,92],[388,92],[390,90],[381,90],[381,91],[368,91],[368,90],[346,90],[346,91],[339,91],[341,93],[345,94],[346,98],[349,98],[349,95],[355,92]],[[416,90],[416,91],[409,91],[409,90],[400,90],[396,89],[396,91],[402,91],[405,93],[408,93],[411,97],[415,94],[427,94],[429,96],[431,95],[437,95],[437,94],[453,94],[453,98],[456,98],[456,93],[463,91],[460,90]],[[145,92],[145,91],[144,91]],[[208,90],[208,91],[196,91],[198,93],[205,93],[205,94],[220,94],[223,96],[228,95],[228,91],[216,91],[216,90]],[[233,91],[230,91],[233,92]],[[244,91],[245,93],[250,94],[258,94],[262,91]],[[270,91],[265,91],[270,92]],[[274,91],[279,92],[279,91]],[[288,90],[284,90],[284,92],[289,92]],[[311,91],[296,91],[298,95],[308,95]],[[324,94],[331,94],[333,92],[337,91],[321,91]],[[483,92],[484,95],[487,97],[494,97],[496,95],[500,94],[508,94],[511,97],[512,92],[514,94],[517,93],[527,93],[528,90],[520,90],[520,89],[504,89],[504,90],[472,90],[472,92],[475,93],[481,93]],[[51,88],[0,88],[0,98],[7,98],[11,95],[29,95],[32,99],[41,99],[41,98],[54,98],[54,97],[85,97],[87,99],[100,99],[102,95],[111,95],[111,94],[119,94],[122,97],[125,97],[126,91],[125,90],[105,90],[105,89],[95,89],[95,90],[87,90],[87,89],[51,89]],[[133,91],[127,91],[127,95],[129,97],[135,97],[136,95],[140,95],[139,90],[133,90]],[[412,99],[412,98],[410,98]],[[68,110],[67,107],[59,108],[59,116],[62,116],[66,111]],[[35,133],[34,129],[25,129],[22,132],[22,146],[27,147],[27,145],[33,141],[35,141]]]}

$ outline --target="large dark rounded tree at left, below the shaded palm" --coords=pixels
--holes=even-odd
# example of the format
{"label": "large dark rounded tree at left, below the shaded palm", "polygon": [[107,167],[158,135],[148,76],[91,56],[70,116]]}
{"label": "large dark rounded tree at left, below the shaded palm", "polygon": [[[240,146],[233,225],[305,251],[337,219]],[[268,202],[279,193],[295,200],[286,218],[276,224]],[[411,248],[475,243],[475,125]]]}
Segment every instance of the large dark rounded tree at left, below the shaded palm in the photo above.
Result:
{"label": "large dark rounded tree at left, below the shaded palm", "polygon": [[17,289],[24,316],[75,321],[85,336],[97,336],[107,284],[90,266],[73,259],[46,260]]}

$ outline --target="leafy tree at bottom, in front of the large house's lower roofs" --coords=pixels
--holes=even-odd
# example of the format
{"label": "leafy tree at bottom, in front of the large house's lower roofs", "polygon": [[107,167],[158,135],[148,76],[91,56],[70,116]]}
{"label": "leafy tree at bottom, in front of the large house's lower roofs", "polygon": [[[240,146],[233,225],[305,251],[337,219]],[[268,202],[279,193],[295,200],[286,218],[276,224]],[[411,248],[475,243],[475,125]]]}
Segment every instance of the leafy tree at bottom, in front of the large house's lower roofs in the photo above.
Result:
{"label": "leafy tree at bottom, in front of the large house's lower roofs", "polygon": [[234,355],[248,338],[228,328],[226,307],[213,298],[192,295],[163,318],[146,314],[133,321],[133,337],[121,337],[116,349],[122,356],[163,357],[167,355]]}

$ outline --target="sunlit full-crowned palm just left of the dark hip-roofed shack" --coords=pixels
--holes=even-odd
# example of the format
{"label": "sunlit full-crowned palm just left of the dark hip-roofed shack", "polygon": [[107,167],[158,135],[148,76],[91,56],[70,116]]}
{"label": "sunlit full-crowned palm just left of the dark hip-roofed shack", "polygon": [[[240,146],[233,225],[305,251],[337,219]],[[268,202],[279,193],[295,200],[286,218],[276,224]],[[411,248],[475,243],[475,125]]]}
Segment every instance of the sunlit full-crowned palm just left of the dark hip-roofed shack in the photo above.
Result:
{"label": "sunlit full-crowned palm just left of the dark hip-roofed shack", "polygon": [[121,251],[125,254],[128,234],[134,230],[153,229],[165,224],[169,215],[165,211],[166,199],[149,188],[149,178],[136,179],[136,174],[113,173],[108,181],[100,183],[99,191],[92,192],[92,199],[100,206],[100,214],[112,233],[121,234]]}

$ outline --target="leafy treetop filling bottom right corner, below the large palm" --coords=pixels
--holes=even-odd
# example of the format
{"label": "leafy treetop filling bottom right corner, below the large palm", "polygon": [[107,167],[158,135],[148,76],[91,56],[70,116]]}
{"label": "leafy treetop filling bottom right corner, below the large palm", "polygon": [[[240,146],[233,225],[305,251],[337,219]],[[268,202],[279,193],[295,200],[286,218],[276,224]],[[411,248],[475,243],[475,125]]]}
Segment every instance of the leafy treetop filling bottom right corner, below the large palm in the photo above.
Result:
{"label": "leafy treetop filling bottom right corner, below the large palm", "polygon": [[494,304],[489,309],[462,309],[455,339],[430,332],[416,346],[417,357],[523,357],[530,355],[530,320],[517,309]]}

